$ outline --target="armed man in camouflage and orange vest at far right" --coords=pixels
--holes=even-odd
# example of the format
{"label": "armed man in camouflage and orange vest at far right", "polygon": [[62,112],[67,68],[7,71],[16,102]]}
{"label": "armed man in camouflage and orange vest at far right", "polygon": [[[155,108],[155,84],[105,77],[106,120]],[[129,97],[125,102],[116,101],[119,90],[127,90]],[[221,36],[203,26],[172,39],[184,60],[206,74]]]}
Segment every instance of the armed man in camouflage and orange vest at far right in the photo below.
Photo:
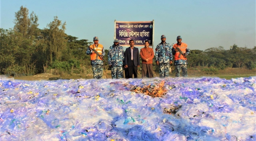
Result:
{"label": "armed man in camouflage and orange vest at far right", "polygon": [[[175,66],[175,76],[180,76],[180,71],[182,71],[182,76],[187,77],[187,55],[190,53],[190,49],[187,47],[186,43],[181,43],[181,36],[177,37],[177,44],[173,45],[172,54],[174,55],[174,66]],[[180,53],[180,51],[181,53]]]}

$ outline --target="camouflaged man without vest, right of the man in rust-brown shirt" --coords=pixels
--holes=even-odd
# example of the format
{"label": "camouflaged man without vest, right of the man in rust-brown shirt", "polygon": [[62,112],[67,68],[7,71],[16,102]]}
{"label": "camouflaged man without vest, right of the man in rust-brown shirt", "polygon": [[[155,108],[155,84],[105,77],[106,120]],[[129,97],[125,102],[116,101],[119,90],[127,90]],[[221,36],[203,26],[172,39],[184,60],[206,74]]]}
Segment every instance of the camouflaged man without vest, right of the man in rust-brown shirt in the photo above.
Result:
{"label": "camouflaged man without vest, right of the man in rust-brown shirt", "polygon": [[162,42],[156,46],[156,65],[159,65],[159,76],[161,78],[169,76],[169,67],[172,64],[171,45],[166,43],[165,40],[165,35],[162,35]]}

